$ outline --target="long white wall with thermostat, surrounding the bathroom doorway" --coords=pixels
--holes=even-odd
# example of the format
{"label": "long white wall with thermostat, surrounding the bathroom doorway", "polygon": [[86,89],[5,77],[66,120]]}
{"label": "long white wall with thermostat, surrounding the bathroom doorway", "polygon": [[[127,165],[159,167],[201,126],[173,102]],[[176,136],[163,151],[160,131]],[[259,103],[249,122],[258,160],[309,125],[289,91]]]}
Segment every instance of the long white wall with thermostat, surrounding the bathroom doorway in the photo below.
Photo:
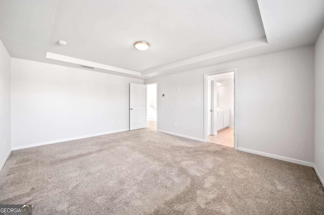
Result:
{"label": "long white wall with thermostat, surrounding the bathroom doorway", "polygon": [[313,45],[148,79],[166,94],[158,128],[203,139],[204,73],[230,68],[238,70],[238,147],[313,163]]}

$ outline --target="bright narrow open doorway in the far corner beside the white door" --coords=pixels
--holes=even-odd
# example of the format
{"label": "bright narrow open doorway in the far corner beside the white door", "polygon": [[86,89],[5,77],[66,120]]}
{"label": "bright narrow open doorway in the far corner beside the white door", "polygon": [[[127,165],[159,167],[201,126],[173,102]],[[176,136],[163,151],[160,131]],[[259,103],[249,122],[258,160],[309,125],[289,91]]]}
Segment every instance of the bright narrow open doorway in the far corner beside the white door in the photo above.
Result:
{"label": "bright narrow open doorway in the far corner beside the white door", "polygon": [[157,126],[157,83],[149,83],[146,87],[147,111],[146,127],[156,131]]}

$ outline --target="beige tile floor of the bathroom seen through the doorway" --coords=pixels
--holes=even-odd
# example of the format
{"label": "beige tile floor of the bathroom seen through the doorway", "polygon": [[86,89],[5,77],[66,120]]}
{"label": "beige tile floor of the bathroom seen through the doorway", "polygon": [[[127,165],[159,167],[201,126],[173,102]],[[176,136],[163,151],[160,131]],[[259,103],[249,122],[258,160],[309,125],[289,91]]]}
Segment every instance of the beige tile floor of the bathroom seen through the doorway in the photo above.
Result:
{"label": "beige tile floor of the bathroom seen through the doorway", "polygon": [[216,135],[210,135],[207,138],[210,143],[234,147],[234,128],[224,128],[219,130]]}

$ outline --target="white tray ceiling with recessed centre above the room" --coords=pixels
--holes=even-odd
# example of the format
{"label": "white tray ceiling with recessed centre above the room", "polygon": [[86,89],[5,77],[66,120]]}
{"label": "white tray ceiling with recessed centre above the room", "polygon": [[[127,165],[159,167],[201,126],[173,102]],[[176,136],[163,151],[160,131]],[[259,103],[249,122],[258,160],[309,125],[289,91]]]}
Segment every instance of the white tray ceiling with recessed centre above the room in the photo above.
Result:
{"label": "white tray ceiling with recessed centre above the room", "polygon": [[0,1],[11,57],[137,78],[313,44],[323,26],[322,0]]}

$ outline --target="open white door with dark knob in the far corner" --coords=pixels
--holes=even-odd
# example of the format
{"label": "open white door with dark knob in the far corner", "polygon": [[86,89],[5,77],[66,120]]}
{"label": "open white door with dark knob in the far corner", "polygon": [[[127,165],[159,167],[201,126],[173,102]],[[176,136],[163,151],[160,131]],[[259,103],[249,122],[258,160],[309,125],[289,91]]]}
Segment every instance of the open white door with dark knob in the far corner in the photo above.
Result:
{"label": "open white door with dark knob in the far corner", "polygon": [[146,127],[146,85],[130,83],[130,130]]}

